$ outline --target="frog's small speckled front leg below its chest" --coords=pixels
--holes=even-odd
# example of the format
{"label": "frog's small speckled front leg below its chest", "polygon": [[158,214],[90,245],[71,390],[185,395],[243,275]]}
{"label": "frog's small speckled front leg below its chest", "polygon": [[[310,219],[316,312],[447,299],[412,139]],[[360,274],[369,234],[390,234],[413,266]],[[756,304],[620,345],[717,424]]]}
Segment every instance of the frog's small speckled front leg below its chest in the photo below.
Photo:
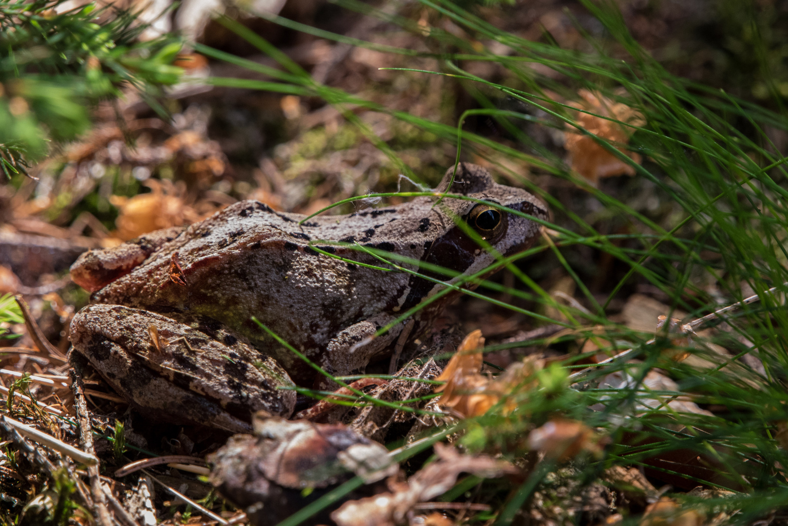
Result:
{"label": "frog's small speckled front leg below its chest", "polygon": [[340,330],[326,347],[325,365],[329,366],[330,372],[335,376],[348,375],[365,367],[372,358],[387,349],[392,350],[407,320],[396,323],[385,334],[377,337],[374,334],[395,319],[395,316],[381,312]]}

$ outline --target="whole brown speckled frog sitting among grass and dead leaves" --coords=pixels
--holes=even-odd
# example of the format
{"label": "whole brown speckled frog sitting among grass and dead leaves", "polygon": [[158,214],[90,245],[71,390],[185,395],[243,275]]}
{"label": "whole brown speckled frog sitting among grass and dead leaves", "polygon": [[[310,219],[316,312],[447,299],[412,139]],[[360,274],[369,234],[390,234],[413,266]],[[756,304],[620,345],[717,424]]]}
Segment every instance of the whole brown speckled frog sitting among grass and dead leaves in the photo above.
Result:
{"label": "whole brown speckled frog sitting among grass and dead leaves", "polygon": [[[446,191],[452,172],[437,192]],[[450,191],[547,218],[536,198],[497,185],[479,166],[459,165]],[[300,224],[301,215],[240,201],[180,232],[161,230],[87,252],[71,270],[73,280],[93,293],[92,304],[73,319],[74,349],[150,416],[227,431],[251,429],[251,414],[259,409],[288,416],[296,392],[281,387],[314,385],[314,368],[252,317],[326,371],[347,375],[390,353],[409,320],[370,338],[377,329],[444,285],[336,256],[386,267],[359,250],[374,248],[474,274],[495,263],[496,255],[481,248],[469,228],[504,256],[528,248],[540,232],[536,222],[485,203],[437,201],[417,197]],[[422,275],[459,279],[426,267]],[[424,334],[456,296],[417,311],[409,338]]]}

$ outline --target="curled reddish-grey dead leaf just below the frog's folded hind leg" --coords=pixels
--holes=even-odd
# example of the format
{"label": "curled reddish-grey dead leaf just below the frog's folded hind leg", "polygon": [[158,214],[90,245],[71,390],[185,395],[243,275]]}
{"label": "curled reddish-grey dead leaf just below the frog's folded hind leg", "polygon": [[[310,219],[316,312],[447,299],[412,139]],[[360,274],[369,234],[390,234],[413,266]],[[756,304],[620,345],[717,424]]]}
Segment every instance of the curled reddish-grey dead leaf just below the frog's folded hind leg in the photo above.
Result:
{"label": "curled reddish-grey dead leaf just below the frog's folded hind leg", "polygon": [[[253,426],[255,436],[235,435],[207,457],[210,482],[244,509],[250,524],[277,524],[354,474],[369,484],[399,471],[384,446],[343,423],[285,420],[260,411]],[[315,520],[327,522],[330,510]]]}

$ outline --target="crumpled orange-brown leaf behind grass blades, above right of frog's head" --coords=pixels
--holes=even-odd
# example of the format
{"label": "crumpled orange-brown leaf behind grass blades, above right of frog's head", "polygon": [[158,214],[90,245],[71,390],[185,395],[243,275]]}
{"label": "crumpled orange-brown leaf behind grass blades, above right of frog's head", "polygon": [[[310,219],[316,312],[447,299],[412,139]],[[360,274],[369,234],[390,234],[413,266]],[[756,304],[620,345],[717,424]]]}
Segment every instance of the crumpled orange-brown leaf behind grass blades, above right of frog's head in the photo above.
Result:
{"label": "crumpled orange-brown leaf behind grass blades, above right of frog's head", "polygon": [[[575,104],[578,109],[613,118],[632,126],[645,124],[643,115],[626,104],[615,103],[600,93],[592,93],[585,89],[578,91],[578,95],[583,99],[582,103]],[[576,123],[613,144],[627,144],[633,132],[633,129],[619,125],[617,122],[608,121],[582,111],[578,111]],[[612,155],[600,144],[597,144],[597,141],[592,137],[579,133],[573,125],[567,125],[567,130],[564,147],[569,152],[572,169],[593,184],[596,184],[601,177],[634,175],[635,170],[632,166]],[[617,149],[640,164],[641,155],[633,151],[626,151],[623,146],[617,147]]]}

